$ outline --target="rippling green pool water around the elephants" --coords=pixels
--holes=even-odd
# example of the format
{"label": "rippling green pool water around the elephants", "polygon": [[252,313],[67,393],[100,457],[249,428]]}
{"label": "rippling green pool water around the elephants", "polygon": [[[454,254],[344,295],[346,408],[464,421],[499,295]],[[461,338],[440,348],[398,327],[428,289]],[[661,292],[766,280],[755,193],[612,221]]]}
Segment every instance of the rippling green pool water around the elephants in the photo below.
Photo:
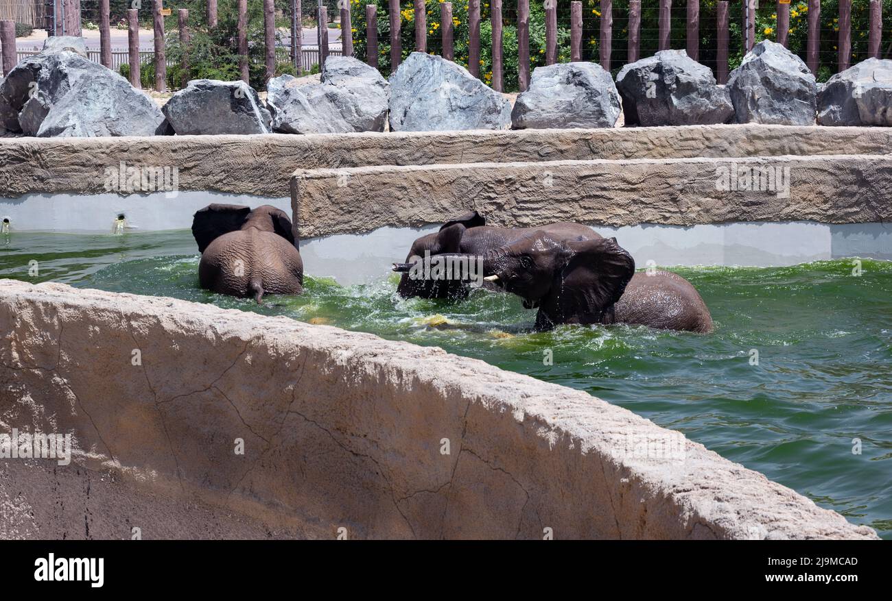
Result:
{"label": "rippling green pool water around the elephants", "polygon": [[673,269],[713,314],[715,331],[702,336],[627,326],[533,333],[534,312],[514,296],[404,300],[385,270],[351,287],[309,272],[304,295],[258,306],[199,288],[198,259],[189,231],[0,236],[0,277],[316,318],[584,390],[892,539],[892,263],[863,260],[860,277],[851,259]]}

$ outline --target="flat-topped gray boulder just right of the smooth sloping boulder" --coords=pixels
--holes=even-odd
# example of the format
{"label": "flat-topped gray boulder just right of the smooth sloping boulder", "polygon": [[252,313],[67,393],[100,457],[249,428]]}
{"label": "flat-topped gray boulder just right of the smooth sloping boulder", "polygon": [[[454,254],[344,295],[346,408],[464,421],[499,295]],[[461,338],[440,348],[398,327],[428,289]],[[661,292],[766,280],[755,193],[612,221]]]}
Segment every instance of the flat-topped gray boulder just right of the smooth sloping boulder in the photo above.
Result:
{"label": "flat-topped gray boulder just right of the smooth sloping boulder", "polygon": [[533,69],[511,111],[515,129],[613,127],[623,111],[613,77],[594,62]]}

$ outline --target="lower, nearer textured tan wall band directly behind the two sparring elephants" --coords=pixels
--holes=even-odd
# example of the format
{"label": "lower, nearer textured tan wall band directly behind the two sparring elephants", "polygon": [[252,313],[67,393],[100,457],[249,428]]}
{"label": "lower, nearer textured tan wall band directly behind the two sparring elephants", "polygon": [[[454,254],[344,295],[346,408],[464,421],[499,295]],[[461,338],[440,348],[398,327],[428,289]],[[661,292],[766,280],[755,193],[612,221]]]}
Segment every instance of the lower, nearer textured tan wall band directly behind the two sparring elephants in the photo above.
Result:
{"label": "lower, nearer textured tan wall band directly behind the two sparring elephants", "polygon": [[[768,179],[769,171],[773,179]],[[759,186],[753,174],[760,173]],[[737,173],[737,183],[731,183]],[[749,175],[746,175],[749,174]],[[750,189],[742,189],[745,178]],[[752,183],[761,187],[752,190]],[[789,183],[789,189],[786,185]],[[491,224],[599,225],[892,218],[892,157],[845,155],[370,166],[298,171],[301,235],[442,223],[476,209]]]}

